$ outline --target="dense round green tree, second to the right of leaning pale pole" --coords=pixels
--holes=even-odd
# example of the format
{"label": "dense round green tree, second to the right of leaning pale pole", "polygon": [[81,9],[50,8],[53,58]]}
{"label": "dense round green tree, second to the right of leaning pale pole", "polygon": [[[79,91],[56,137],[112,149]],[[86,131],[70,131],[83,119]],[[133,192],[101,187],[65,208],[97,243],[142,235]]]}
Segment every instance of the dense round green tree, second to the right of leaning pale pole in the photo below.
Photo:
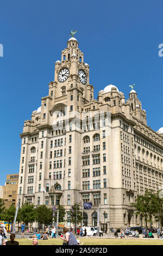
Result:
{"label": "dense round green tree, second to the right of leaning pale pole", "polygon": [[46,205],[39,205],[36,208],[36,221],[41,224],[51,224],[53,221],[53,210]]}

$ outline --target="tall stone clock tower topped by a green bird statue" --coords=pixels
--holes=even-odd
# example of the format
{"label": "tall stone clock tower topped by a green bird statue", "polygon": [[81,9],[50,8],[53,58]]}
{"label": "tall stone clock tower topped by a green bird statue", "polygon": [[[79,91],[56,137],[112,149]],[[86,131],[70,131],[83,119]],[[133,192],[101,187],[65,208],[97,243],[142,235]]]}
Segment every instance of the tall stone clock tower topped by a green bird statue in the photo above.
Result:
{"label": "tall stone clock tower topped by a green bird statue", "polygon": [[59,97],[67,96],[70,111],[82,112],[79,102],[89,103],[93,99],[93,86],[89,84],[89,65],[84,63],[84,54],[78,48],[76,38],[67,41],[61,52],[61,61],[55,62],[54,82],[49,83],[49,96],[53,103]]}

